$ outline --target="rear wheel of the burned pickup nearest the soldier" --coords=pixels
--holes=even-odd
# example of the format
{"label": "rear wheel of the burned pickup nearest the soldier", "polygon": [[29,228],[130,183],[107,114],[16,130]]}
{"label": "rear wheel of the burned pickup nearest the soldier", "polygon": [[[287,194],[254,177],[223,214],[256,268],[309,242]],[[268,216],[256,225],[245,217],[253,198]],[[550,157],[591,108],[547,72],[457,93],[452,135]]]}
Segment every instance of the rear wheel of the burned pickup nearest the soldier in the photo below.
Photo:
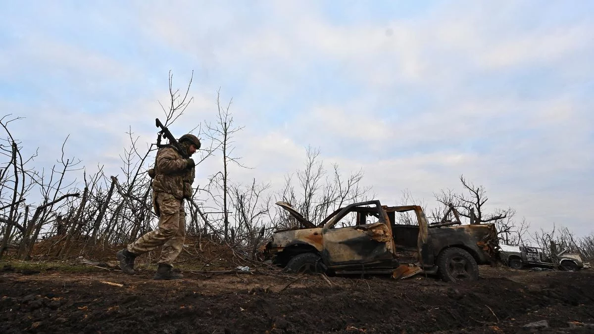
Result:
{"label": "rear wheel of the burned pickup nearest the soldier", "polygon": [[479,266],[470,253],[458,247],[445,248],[437,257],[441,279],[445,282],[476,281]]}

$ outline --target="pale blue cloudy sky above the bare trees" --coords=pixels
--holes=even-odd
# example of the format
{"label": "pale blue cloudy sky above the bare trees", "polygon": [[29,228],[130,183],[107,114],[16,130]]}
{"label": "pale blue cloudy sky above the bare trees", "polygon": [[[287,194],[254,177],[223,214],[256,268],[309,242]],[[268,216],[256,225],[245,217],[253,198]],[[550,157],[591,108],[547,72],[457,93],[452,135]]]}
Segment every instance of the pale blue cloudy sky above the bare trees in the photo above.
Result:
{"label": "pale blue cloudy sky above the bare trees", "polygon": [[[156,136],[174,86],[194,97],[171,128],[232,99],[235,153],[282,187],[306,147],[384,204],[434,204],[458,177],[532,229],[594,231],[594,2],[0,0],[0,110],[35,163],[65,152],[121,173],[128,132]],[[197,184],[220,169],[198,166]]]}

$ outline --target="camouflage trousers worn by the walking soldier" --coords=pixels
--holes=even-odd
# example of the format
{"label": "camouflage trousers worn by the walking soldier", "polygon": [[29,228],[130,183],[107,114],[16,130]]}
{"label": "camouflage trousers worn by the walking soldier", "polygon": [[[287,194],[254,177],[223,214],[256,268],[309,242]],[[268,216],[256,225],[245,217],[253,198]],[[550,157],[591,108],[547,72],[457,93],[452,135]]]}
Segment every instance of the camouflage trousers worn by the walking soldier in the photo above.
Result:
{"label": "camouflage trousers worn by the walking soldier", "polygon": [[171,265],[184,248],[184,203],[183,200],[167,193],[153,193],[153,200],[157,213],[160,212],[159,226],[129,244],[127,248],[131,253],[143,254],[162,245],[159,263]]}

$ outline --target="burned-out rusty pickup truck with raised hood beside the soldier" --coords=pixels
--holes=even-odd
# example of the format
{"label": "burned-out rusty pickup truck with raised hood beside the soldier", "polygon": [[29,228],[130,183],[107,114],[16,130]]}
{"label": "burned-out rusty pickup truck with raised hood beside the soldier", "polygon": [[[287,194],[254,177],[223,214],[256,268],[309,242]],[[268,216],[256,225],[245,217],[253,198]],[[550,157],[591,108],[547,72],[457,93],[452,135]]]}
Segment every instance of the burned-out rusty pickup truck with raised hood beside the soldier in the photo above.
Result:
{"label": "burned-out rusty pickup truck with raised hood beside the soldier", "polygon": [[[429,225],[420,206],[381,206],[380,201],[350,204],[314,224],[290,204],[278,202],[301,226],[277,231],[263,248],[264,257],[289,272],[438,274],[444,281],[478,279],[478,264],[495,260],[493,224]],[[396,214],[417,225],[397,224]],[[458,222],[459,223],[459,222]]]}

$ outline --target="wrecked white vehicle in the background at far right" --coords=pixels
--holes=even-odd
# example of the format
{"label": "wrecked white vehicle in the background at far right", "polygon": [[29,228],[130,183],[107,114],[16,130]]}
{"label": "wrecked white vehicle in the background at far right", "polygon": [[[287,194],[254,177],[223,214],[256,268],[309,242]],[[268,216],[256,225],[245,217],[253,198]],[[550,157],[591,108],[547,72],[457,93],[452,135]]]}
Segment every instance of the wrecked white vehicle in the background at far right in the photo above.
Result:
{"label": "wrecked white vehicle in the background at far right", "polygon": [[580,254],[567,253],[567,250],[551,257],[537,247],[500,245],[500,248],[501,261],[514,269],[539,267],[573,272],[590,267],[590,263],[584,262]]}

